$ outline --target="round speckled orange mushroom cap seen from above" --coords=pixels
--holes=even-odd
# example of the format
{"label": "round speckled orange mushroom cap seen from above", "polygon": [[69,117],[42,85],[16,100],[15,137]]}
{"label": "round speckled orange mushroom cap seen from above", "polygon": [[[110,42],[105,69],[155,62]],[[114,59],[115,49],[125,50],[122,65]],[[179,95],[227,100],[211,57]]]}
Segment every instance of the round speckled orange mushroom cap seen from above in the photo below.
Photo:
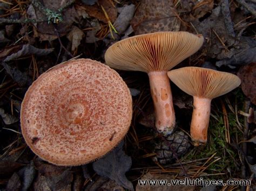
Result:
{"label": "round speckled orange mushroom cap seen from above", "polygon": [[132,99],[113,69],[90,59],[48,70],[28,89],[21,110],[26,143],[56,165],[86,164],[123,139],[132,118]]}

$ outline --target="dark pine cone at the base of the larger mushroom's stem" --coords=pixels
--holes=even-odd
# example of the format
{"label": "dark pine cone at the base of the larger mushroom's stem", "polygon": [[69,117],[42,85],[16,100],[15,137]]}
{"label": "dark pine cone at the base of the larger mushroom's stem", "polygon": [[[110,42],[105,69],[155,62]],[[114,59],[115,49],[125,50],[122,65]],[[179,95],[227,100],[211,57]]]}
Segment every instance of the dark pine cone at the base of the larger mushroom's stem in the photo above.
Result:
{"label": "dark pine cone at the base of the larger mushroom's stem", "polygon": [[172,146],[177,157],[184,155],[191,146],[188,136],[183,131],[175,131],[172,135],[165,137],[165,139],[166,141],[161,140],[154,147],[156,157],[153,160],[158,161],[162,165],[170,164],[176,159],[169,146]]}

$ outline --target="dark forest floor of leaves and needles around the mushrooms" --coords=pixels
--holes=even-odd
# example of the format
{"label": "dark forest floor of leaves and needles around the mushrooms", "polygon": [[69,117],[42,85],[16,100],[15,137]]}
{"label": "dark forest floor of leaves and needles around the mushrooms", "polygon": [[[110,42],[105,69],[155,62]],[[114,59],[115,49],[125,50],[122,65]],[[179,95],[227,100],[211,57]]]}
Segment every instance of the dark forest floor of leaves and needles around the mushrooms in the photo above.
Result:
{"label": "dark forest floor of leaves and needles around the mushrooms", "polygon": [[[254,0],[0,0],[0,190],[256,190],[255,16]],[[26,90],[39,75],[70,59],[104,63],[113,43],[157,31],[204,36],[199,51],[175,68],[205,67],[241,79],[240,87],[212,101],[206,145],[193,146],[190,139],[192,96],[171,83],[177,130],[169,143],[174,149],[159,154],[166,148],[152,128],[149,78],[118,71],[131,90],[133,117],[124,142],[110,153],[114,159],[100,159],[110,166],[97,173],[100,160],[59,167],[33,154],[19,114]],[[140,179],[185,178],[251,180],[251,185],[138,185]]]}

